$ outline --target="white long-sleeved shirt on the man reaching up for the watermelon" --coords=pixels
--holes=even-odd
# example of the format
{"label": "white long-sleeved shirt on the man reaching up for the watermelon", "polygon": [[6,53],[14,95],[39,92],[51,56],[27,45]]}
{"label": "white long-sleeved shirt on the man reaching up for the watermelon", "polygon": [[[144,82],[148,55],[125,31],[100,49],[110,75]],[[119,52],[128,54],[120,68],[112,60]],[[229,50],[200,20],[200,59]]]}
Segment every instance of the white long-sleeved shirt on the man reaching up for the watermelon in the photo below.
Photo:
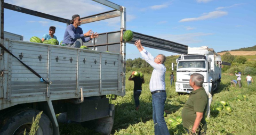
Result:
{"label": "white long-sleeved shirt on the man reaching up for the watermelon", "polygon": [[145,60],[148,64],[150,64],[154,70],[152,72],[149,89],[150,91],[155,90],[165,90],[165,71],[166,68],[164,64],[157,64],[154,62],[154,57],[147,52],[146,49],[143,49],[140,54],[142,55],[143,60]]}

